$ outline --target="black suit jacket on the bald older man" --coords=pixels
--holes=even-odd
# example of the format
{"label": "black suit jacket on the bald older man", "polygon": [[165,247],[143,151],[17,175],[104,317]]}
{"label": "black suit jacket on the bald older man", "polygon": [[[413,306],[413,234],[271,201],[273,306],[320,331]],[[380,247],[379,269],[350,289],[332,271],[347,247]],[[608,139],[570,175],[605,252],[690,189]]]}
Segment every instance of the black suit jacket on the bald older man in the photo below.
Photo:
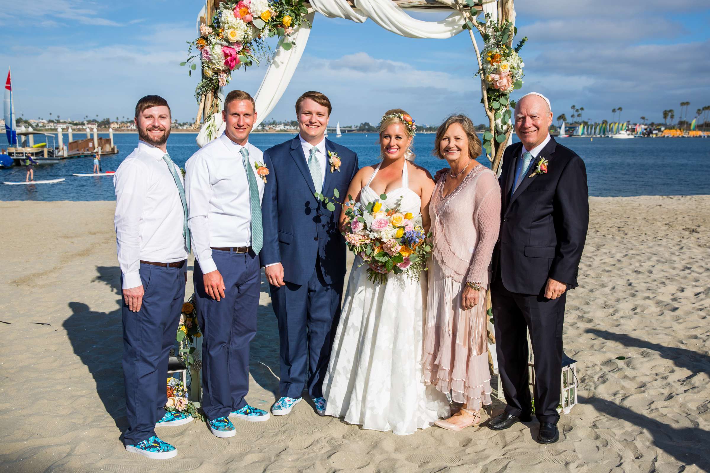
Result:
{"label": "black suit jacket on the bald older man", "polygon": [[[500,275],[503,286],[519,294],[542,294],[548,277],[573,289],[589,226],[584,161],[550,137],[511,196],[522,148],[515,143],[503,155],[498,179],[503,193],[501,233],[493,252],[493,280]],[[540,158],[549,162],[547,174],[528,177]]]}

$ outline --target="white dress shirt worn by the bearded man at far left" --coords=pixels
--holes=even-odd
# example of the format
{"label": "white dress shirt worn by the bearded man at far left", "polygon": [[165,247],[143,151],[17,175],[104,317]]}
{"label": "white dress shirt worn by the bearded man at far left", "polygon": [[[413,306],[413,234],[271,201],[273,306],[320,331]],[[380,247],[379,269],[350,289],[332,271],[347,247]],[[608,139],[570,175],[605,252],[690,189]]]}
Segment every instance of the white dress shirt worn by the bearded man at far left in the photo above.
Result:
{"label": "white dress shirt worn by the bearded man at far left", "polygon": [[[187,258],[180,191],[163,160],[165,152],[138,141],[114,174],[116,247],[123,289],[141,286],[141,260],[162,263]],[[182,179],[180,168],[173,163]]]}

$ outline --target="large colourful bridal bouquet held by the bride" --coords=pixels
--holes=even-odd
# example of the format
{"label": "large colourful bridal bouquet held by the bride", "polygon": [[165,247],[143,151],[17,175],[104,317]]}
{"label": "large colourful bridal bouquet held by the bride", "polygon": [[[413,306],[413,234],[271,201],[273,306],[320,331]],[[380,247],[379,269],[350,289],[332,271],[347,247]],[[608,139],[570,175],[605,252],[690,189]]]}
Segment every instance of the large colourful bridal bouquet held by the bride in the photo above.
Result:
{"label": "large colourful bridal bouquet held by the bride", "polygon": [[[386,196],[380,196],[386,199]],[[401,213],[399,204],[395,208],[383,208],[380,201],[364,206],[348,196],[349,206],[345,211],[348,218],[343,236],[347,246],[364,262],[379,265],[382,272],[368,267],[368,280],[383,284],[388,274],[407,274],[419,280],[432,245],[421,227],[421,218],[413,218],[412,213]]]}

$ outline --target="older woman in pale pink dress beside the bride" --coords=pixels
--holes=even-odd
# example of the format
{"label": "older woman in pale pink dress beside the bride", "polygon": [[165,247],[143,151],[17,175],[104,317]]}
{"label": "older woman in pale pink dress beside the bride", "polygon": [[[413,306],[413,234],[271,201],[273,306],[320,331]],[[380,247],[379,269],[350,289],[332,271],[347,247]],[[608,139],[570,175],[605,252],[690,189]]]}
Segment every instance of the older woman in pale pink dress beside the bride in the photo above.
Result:
{"label": "older woman in pale pink dress beside the bride", "polygon": [[481,141],[464,115],[437,130],[434,154],[449,169],[429,206],[434,234],[422,365],[425,384],[464,404],[440,427],[461,430],[481,421],[491,404],[486,291],[488,268],[501,226],[501,189],[490,169],[476,162]]}

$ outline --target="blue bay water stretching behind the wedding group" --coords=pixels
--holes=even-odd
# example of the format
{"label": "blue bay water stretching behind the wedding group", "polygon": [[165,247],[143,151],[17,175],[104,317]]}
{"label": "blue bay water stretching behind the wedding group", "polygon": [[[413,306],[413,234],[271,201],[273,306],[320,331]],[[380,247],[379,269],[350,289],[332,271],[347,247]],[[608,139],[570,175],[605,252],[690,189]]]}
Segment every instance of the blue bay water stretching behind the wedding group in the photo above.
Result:
{"label": "blue bay water stretching behind the wedding group", "polygon": [[[77,134],[78,135],[78,134]],[[108,138],[107,133],[99,133]],[[197,150],[196,133],[173,133],[168,140],[170,157],[182,166]],[[285,133],[253,133],[251,143],[261,150],[283,143],[294,135]],[[65,143],[67,143],[65,133]],[[379,148],[375,133],[344,134],[341,138],[329,136],[334,142],[350,148],[358,154],[360,165],[378,161]],[[419,133],[415,138],[418,165],[432,174],[444,167],[446,162],[432,157],[433,133]],[[116,133],[114,142],[118,155],[102,158],[102,170],[113,171],[129,155],[138,142],[136,133]],[[710,140],[704,138],[635,138],[614,140],[611,138],[560,138],[561,143],[571,148],[584,159],[591,196],[640,196],[640,195],[696,195],[710,194]],[[5,136],[0,138],[0,147],[6,148]],[[479,162],[490,167],[485,156]],[[552,164],[554,165],[554,164]],[[0,200],[35,201],[99,201],[114,200],[113,178],[75,177],[72,173],[92,172],[93,159],[89,157],[62,160],[55,165],[36,165],[35,180],[66,180],[57,184],[8,186],[0,184]],[[0,169],[0,182],[25,180],[24,167]]]}

